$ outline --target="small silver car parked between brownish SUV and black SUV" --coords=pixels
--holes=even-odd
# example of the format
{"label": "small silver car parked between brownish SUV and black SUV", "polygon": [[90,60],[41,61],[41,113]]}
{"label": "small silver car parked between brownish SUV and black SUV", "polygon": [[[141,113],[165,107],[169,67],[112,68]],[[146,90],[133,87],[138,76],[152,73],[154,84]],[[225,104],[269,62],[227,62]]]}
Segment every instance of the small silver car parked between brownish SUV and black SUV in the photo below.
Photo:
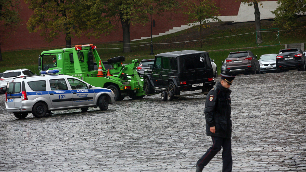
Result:
{"label": "small silver car parked between brownish SUV and black SUV", "polygon": [[276,56],[277,54],[263,54],[259,58],[259,66],[261,73],[276,72]]}

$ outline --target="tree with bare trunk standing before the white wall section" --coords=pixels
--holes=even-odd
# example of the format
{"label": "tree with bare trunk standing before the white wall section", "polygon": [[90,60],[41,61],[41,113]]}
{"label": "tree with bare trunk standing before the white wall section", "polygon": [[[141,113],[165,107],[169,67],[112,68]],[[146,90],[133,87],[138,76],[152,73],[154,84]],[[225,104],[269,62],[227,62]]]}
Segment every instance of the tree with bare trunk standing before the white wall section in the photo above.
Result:
{"label": "tree with bare trunk standing before the white wall section", "polygon": [[[248,4],[248,6],[254,6],[254,14],[255,14],[255,27],[256,30],[260,30],[260,11],[259,11],[259,6],[262,6],[263,3],[260,2],[259,0],[240,0],[240,2],[243,2],[244,4]],[[257,31],[257,43],[262,43],[262,37],[261,37],[261,32]]]}

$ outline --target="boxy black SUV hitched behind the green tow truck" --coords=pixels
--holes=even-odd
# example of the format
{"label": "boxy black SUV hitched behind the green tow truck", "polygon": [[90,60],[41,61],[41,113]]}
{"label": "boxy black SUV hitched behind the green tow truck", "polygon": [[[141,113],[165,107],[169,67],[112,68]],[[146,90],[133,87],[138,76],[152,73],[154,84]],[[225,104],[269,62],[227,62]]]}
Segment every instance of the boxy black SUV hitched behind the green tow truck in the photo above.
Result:
{"label": "boxy black SUV hitched behind the green tow truck", "polygon": [[155,89],[161,90],[162,101],[172,101],[179,97],[175,95],[185,91],[202,90],[200,94],[207,94],[216,83],[208,52],[205,51],[157,54],[150,69],[144,73],[144,90],[147,95],[155,94]]}

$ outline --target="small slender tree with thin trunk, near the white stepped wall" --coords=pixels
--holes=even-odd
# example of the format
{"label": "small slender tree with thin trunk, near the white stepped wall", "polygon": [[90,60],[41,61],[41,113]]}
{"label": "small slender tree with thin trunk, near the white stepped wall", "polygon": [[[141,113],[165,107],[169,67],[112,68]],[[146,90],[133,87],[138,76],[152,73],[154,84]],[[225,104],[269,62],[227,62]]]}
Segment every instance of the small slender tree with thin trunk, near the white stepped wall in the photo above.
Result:
{"label": "small slender tree with thin trunk, near the white stepped wall", "polygon": [[218,19],[220,8],[216,7],[215,2],[211,0],[185,0],[184,6],[187,8],[183,13],[188,15],[188,21],[194,26],[200,23],[199,32],[202,48],[202,24],[209,23],[210,21],[220,21]]}

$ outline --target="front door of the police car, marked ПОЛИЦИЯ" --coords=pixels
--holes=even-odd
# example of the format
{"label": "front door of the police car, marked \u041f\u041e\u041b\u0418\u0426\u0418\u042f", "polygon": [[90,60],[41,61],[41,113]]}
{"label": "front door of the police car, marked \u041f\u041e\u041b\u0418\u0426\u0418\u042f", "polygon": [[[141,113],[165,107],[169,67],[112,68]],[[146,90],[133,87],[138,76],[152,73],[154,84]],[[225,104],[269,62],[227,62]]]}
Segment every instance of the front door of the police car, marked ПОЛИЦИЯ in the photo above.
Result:
{"label": "front door of the police car, marked \u041f\u041e\u041b\u0418\u0426\u0418\u042f", "polygon": [[73,96],[73,106],[94,104],[95,93],[88,85],[76,78],[68,78]]}

